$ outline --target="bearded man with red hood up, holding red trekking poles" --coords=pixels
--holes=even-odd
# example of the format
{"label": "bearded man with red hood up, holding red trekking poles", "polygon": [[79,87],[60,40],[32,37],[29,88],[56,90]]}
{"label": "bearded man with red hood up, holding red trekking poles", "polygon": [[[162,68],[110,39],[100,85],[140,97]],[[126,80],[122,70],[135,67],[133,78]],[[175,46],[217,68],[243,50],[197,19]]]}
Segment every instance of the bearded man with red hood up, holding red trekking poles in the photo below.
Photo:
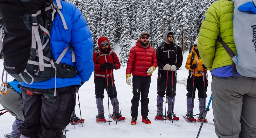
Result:
{"label": "bearded man with red hood up, holding red trekking poles", "polygon": [[[98,119],[104,119],[104,89],[107,90],[107,76],[108,76],[108,97],[113,106],[113,114],[111,116],[119,119],[122,115],[119,113],[119,102],[117,99],[115,79],[113,78],[113,87],[111,80],[111,72],[120,69],[121,64],[115,52],[111,51],[109,40],[102,36],[98,39],[99,50],[93,53],[94,63],[94,83],[95,83],[95,97],[98,108]],[[114,95],[113,95],[114,91]],[[114,104],[115,102],[115,104]]]}

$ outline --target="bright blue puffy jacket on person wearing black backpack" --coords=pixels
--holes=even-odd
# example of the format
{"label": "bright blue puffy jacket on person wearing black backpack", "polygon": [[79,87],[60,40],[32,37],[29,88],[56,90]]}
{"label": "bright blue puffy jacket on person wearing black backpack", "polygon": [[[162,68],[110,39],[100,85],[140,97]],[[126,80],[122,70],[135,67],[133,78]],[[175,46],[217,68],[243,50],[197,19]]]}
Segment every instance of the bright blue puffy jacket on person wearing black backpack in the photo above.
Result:
{"label": "bright blue puffy jacket on person wearing black backpack", "polygon": [[[54,3],[56,4],[55,0]],[[60,11],[65,18],[68,29],[64,29],[61,17],[57,13],[57,16],[53,20],[50,34],[52,56],[54,59],[57,59],[61,52],[69,44],[72,44],[76,54],[76,62],[72,63],[71,48],[69,48],[63,59],[61,59],[61,63],[77,67],[77,75],[73,78],[56,78],[56,85],[57,88],[72,85],[81,86],[81,82],[89,80],[94,69],[93,39],[81,11],[73,4],[65,1],[61,1],[61,6],[62,9]],[[44,82],[33,82],[32,85],[20,82],[20,85],[36,89],[51,89],[55,86],[55,77]]]}

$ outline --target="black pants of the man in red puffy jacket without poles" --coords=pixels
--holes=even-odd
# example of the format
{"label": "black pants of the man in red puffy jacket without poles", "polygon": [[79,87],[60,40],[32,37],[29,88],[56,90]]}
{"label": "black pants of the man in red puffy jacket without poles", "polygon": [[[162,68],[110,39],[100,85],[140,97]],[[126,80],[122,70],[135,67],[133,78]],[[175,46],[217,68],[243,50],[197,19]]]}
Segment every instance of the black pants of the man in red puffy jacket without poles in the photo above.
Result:
{"label": "black pants of the man in red puffy jacket without poles", "polygon": [[[133,76],[132,77],[132,109],[131,116],[138,117],[139,101],[141,103],[141,116],[148,116],[148,93],[151,77]],[[141,100],[140,100],[141,97]]]}

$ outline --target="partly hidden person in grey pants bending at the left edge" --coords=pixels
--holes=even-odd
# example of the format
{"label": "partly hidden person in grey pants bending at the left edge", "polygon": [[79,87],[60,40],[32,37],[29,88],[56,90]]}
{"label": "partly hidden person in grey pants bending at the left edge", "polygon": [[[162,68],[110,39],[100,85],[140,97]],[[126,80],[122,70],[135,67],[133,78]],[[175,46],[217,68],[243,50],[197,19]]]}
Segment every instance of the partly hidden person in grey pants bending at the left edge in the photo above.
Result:
{"label": "partly hidden person in grey pants bending at the left edge", "polygon": [[[18,128],[24,121],[21,89],[18,88],[18,85],[18,81],[7,82],[8,93],[0,94],[0,104],[6,111],[16,118],[12,126],[12,132],[9,135],[10,138],[19,138],[21,136],[21,132]],[[5,90],[6,88],[3,88],[2,93],[6,93]]]}

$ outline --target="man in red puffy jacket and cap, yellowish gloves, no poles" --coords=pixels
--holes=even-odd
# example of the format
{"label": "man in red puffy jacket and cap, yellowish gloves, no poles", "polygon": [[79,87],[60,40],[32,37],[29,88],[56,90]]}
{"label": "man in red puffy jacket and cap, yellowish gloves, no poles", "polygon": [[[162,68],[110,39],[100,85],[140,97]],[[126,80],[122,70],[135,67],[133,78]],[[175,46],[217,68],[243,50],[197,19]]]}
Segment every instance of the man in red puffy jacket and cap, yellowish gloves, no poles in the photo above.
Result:
{"label": "man in red puffy jacket and cap, yellowish gloves, no poles", "polygon": [[156,51],[150,47],[147,33],[141,33],[139,39],[136,42],[136,46],[131,48],[127,68],[126,68],[126,82],[131,85],[132,77],[132,125],[136,125],[138,117],[139,101],[141,96],[141,116],[142,122],[151,124],[148,119],[148,93],[151,82],[151,75],[156,70],[157,60]]}

